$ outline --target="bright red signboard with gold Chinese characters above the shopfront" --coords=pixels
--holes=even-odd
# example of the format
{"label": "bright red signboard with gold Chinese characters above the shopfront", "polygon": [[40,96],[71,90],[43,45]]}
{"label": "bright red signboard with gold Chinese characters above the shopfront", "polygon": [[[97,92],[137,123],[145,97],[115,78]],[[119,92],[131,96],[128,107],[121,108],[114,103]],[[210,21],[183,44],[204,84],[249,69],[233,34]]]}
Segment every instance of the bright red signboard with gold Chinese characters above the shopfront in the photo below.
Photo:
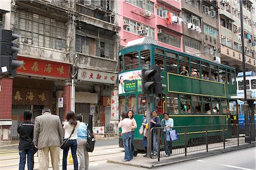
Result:
{"label": "bright red signboard with gold Chinese characters above the shopfront", "polygon": [[18,67],[18,73],[34,75],[54,76],[58,78],[68,78],[70,65],[42,59],[27,58],[18,56],[18,60],[23,61],[23,65]]}

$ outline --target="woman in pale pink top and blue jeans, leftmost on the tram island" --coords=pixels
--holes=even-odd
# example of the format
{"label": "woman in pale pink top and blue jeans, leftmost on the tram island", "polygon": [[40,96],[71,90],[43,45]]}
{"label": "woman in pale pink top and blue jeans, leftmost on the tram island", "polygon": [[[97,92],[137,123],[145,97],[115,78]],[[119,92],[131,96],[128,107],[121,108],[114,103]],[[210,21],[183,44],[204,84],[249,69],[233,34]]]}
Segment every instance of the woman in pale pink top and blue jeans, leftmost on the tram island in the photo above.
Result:
{"label": "woman in pale pink top and blue jeans, leftmost on the tram island", "polygon": [[127,113],[123,112],[119,121],[118,128],[122,128],[123,148],[125,148],[125,159],[123,162],[130,161],[132,158],[131,152],[131,128],[133,121],[130,120]]}

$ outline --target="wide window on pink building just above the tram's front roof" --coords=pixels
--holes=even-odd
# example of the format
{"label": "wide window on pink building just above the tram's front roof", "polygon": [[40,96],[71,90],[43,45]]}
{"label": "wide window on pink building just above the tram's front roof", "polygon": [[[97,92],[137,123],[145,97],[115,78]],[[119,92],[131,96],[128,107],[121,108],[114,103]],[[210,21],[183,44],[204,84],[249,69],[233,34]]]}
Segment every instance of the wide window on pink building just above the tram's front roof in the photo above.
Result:
{"label": "wide window on pink building just above the tram's front roof", "polygon": [[144,25],[142,23],[138,23],[138,22],[135,22],[134,20],[130,20],[130,19],[126,19],[126,18],[123,18],[123,22],[127,23],[126,26],[125,25],[123,26],[123,29],[125,29],[127,31],[137,33],[138,30],[143,29],[144,31],[148,32],[148,37],[150,37],[152,39],[155,38],[155,29],[154,28],[148,27],[147,25]]}

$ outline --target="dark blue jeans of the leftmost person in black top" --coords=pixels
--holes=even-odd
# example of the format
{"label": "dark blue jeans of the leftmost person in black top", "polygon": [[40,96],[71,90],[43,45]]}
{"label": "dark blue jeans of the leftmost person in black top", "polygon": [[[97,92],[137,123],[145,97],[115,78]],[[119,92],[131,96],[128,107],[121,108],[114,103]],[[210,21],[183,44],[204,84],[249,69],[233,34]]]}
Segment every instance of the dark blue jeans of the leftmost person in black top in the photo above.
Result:
{"label": "dark blue jeans of the leftmost person in black top", "polygon": [[34,167],[34,155],[32,149],[19,150],[19,170],[25,169],[27,155],[27,169],[32,170]]}

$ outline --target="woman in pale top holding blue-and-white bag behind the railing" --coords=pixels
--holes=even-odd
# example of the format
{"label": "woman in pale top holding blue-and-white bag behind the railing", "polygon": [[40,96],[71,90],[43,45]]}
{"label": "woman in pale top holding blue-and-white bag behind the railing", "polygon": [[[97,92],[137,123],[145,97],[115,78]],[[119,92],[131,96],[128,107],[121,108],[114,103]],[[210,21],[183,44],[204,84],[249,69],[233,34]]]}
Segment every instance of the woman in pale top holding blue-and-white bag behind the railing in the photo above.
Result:
{"label": "woman in pale top holding blue-and-white bag behind the railing", "polygon": [[161,125],[164,131],[164,151],[166,152],[166,157],[168,157],[172,155],[170,131],[174,128],[174,120],[169,117],[168,113],[164,113],[163,116],[164,118],[161,121]]}

